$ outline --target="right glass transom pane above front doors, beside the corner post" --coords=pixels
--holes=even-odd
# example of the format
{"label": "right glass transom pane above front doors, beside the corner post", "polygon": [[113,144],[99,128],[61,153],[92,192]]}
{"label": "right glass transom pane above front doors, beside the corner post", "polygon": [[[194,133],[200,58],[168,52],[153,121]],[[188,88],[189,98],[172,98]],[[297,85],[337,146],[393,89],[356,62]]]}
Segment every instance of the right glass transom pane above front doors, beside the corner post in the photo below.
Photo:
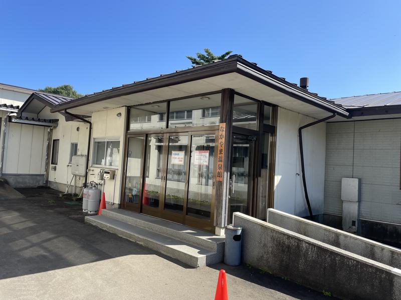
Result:
{"label": "right glass transom pane above front doors, beside the corner post", "polygon": [[170,102],[168,127],[204,126],[220,123],[221,94]]}

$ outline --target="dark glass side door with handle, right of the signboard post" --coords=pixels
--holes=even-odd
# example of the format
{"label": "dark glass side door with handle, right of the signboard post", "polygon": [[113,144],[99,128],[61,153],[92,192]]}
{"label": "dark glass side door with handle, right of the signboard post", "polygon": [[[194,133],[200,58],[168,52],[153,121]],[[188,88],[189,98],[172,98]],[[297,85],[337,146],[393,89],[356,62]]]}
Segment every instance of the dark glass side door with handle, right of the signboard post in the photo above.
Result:
{"label": "dark glass side door with handle, right of the signboard post", "polygon": [[229,223],[236,211],[249,214],[253,196],[255,137],[234,134],[231,156]]}

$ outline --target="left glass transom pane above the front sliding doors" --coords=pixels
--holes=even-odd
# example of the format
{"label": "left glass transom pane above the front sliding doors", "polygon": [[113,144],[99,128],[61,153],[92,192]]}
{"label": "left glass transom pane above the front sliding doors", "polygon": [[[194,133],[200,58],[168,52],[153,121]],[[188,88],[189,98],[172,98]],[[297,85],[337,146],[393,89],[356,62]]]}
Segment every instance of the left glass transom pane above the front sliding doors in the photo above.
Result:
{"label": "left glass transom pane above the front sliding doors", "polygon": [[128,130],[165,128],[166,103],[141,105],[129,109]]}

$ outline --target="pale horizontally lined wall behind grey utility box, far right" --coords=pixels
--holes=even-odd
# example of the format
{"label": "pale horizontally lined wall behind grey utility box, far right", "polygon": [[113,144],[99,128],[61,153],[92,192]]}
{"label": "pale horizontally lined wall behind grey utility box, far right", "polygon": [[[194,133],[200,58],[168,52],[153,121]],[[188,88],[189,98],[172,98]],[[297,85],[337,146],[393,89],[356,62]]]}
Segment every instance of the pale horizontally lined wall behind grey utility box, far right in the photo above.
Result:
{"label": "pale horizontally lined wall behind grey utility box, far right", "polygon": [[324,212],[342,215],[341,178],[361,178],[360,218],[401,223],[401,119],[327,124]]}

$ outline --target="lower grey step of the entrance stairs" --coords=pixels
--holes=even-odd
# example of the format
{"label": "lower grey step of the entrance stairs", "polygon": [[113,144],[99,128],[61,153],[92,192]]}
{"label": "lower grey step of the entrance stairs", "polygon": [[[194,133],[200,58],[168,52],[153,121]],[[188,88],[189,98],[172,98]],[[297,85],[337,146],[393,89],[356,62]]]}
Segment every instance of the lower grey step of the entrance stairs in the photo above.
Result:
{"label": "lower grey step of the entrance stairs", "polygon": [[103,215],[86,216],[85,222],[118,234],[147,248],[182,261],[192,267],[220,262],[221,255],[149,229],[141,228]]}

